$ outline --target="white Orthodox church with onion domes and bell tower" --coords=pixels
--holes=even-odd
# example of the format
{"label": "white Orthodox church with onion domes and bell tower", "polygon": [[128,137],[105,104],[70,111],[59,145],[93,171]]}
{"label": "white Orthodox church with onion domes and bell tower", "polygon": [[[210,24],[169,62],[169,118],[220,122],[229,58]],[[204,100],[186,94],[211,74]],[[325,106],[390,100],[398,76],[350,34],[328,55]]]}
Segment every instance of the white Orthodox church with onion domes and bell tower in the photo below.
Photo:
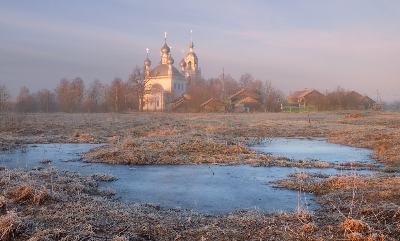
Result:
{"label": "white Orthodox church with onion domes and bell tower", "polygon": [[[190,30],[192,33],[192,30]],[[201,69],[198,67],[198,58],[193,51],[193,36],[190,36],[189,53],[184,58],[182,49],[182,60],[179,62],[180,71],[174,67],[174,59],[171,49],[167,45],[167,33],[164,33],[165,42],[161,48],[161,60],[152,71],[150,71],[151,61],[146,58],[144,66],[146,74],[152,73],[154,81],[148,93],[144,96],[143,110],[148,111],[167,111],[167,103],[183,95],[193,80],[201,78]],[[148,51],[148,49],[147,49]]]}

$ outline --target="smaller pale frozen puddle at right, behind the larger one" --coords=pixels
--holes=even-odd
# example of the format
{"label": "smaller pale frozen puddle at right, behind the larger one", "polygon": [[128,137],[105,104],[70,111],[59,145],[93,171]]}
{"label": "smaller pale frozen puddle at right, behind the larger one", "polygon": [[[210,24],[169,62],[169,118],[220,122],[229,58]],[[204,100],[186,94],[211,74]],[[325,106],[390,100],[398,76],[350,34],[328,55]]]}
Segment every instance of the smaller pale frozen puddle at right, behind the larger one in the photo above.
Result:
{"label": "smaller pale frozen puddle at right, behind the larger one", "polygon": [[375,160],[368,156],[368,154],[375,153],[375,149],[328,143],[326,138],[314,138],[308,140],[296,137],[276,137],[273,142],[250,146],[250,148],[274,156],[287,156],[298,160],[317,159],[332,163],[345,161],[375,163]]}

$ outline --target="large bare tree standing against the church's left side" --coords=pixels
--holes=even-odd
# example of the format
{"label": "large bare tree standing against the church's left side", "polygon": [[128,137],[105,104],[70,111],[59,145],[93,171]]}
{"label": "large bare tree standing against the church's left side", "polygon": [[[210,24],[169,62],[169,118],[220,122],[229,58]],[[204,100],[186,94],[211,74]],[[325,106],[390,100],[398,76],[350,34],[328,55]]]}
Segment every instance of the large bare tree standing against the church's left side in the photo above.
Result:
{"label": "large bare tree standing against the church's left side", "polygon": [[150,93],[151,87],[157,77],[158,73],[155,71],[152,70],[146,74],[146,68],[140,66],[136,66],[129,75],[129,83],[132,85],[132,91],[139,97],[140,112],[143,112],[144,96]]}

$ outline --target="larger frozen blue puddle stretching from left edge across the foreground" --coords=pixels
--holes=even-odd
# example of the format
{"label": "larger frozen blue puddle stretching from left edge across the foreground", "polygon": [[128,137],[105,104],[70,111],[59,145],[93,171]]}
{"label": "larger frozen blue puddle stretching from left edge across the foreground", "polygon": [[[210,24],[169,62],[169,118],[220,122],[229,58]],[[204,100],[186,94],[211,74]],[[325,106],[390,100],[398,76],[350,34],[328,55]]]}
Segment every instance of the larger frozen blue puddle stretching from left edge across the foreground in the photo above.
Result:
{"label": "larger frozen blue puddle stretching from left edge across the foreground", "polygon": [[[286,139],[285,139],[286,140]],[[316,141],[318,142],[318,141]],[[312,142],[314,143],[314,142]],[[323,143],[323,142],[321,142]],[[113,188],[116,198],[127,203],[153,203],[165,208],[180,207],[200,213],[229,213],[235,209],[260,211],[291,211],[298,207],[296,190],[272,188],[269,181],[285,178],[296,172],[294,167],[250,167],[248,165],[114,165],[106,163],[62,162],[80,157],[78,152],[102,144],[36,144],[29,151],[0,154],[0,166],[7,168],[33,168],[49,164],[38,161],[46,157],[58,170],[76,171],[83,175],[94,172],[110,173],[118,177],[114,182],[100,182],[99,188]],[[282,144],[283,145],[283,144]],[[286,155],[286,154],[281,154]],[[131,168],[131,169],[130,169]],[[333,168],[302,168],[307,172],[336,174]],[[367,171],[359,171],[367,172]],[[306,194],[309,209],[318,205],[312,194]],[[304,196],[302,196],[304,201]]]}

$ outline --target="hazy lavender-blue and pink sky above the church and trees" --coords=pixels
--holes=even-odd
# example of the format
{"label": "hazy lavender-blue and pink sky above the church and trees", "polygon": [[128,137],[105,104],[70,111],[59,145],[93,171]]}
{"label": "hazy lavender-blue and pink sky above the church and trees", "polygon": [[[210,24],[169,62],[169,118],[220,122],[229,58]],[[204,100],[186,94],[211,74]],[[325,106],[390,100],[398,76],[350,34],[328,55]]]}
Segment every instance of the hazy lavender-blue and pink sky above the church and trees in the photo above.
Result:
{"label": "hazy lavender-blue and pink sky above the church and trees", "polygon": [[[340,85],[400,99],[400,1],[0,1],[0,85],[16,97],[60,79],[127,80],[172,47],[194,52],[205,79],[222,70],[271,80],[287,95]],[[396,96],[397,95],[397,96]]]}

